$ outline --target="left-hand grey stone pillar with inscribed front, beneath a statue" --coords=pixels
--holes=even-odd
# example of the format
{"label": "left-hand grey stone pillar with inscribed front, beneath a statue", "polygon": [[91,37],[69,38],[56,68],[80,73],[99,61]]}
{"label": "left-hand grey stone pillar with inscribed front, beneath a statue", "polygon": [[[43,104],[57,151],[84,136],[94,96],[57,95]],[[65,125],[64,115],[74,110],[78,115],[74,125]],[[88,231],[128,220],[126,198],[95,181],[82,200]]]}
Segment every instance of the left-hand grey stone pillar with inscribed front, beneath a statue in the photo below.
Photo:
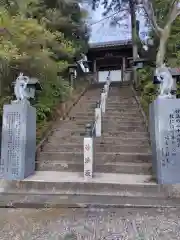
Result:
{"label": "left-hand grey stone pillar with inscribed front, beneath a statue", "polygon": [[4,105],[0,177],[23,180],[35,171],[36,110],[27,100]]}

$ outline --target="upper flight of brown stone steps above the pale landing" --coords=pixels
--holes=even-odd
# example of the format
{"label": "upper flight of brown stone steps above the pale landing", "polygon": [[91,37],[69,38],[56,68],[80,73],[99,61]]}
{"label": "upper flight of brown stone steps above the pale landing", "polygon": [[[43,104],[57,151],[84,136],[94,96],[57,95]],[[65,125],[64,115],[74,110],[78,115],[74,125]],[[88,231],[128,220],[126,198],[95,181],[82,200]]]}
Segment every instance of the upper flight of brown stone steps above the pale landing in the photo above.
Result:
{"label": "upper flight of brown stone steps above the pale landing", "polygon": [[[86,93],[69,119],[54,129],[37,159],[38,170],[83,172],[83,136],[80,135],[83,135],[85,125],[94,119],[99,96],[100,89]],[[129,88],[111,88],[103,121],[103,136],[95,138],[94,151],[95,172],[150,173],[147,132]]]}

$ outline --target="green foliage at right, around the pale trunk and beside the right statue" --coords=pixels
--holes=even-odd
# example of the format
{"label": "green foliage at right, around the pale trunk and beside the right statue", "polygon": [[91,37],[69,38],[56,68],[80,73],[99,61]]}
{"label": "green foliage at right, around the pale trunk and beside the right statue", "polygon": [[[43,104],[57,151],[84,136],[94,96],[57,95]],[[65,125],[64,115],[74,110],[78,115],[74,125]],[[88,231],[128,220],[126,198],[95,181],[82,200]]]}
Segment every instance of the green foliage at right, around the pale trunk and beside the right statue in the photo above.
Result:
{"label": "green foliage at right, around the pale trunk and beside the right statue", "polygon": [[[155,0],[153,1],[153,6],[155,9],[155,15],[157,23],[160,27],[164,27],[167,21],[167,16],[169,14],[171,1]],[[167,42],[167,51],[165,54],[165,61],[171,67],[178,67],[180,64],[180,17],[176,18],[173,25],[171,26],[171,34]],[[151,32],[151,36],[154,39],[153,51],[157,52],[159,47],[159,37],[154,31]],[[148,56],[152,54],[152,49],[148,52]],[[154,54],[153,58],[156,54]],[[152,83],[153,80],[153,69],[150,67],[144,68],[139,72],[140,81],[140,92],[141,92],[141,103],[148,115],[149,104],[155,99],[157,95],[156,86]],[[177,93],[180,93],[180,86],[177,87]]]}

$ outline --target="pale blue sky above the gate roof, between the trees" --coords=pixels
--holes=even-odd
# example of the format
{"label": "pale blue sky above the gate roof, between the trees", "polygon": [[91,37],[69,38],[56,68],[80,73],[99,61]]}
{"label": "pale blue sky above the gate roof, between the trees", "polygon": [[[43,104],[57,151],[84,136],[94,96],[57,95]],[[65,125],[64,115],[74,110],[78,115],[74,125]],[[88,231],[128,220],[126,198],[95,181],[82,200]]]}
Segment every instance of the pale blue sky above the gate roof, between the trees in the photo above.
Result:
{"label": "pale blue sky above the gate roof, between the trees", "polygon": [[[104,18],[102,16],[103,7],[100,5],[96,11],[92,11],[91,6],[89,4],[85,4],[85,8],[88,9],[89,12],[89,23],[95,23]],[[109,15],[111,15],[110,13]],[[137,14],[137,19],[140,20],[140,38],[145,40],[147,35],[147,27],[145,27],[145,20],[143,19],[141,14]],[[117,40],[128,40],[131,39],[131,18],[130,15],[125,18],[124,21],[121,21],[121,24],[127,24],[127,28],[124,26],[110,26],[111,18],[105,19],[100,23],[94,24],[91,27],[91,37],[90,43],[101,43],[101,42],[109,42],[109,41],[117,41]]]}

